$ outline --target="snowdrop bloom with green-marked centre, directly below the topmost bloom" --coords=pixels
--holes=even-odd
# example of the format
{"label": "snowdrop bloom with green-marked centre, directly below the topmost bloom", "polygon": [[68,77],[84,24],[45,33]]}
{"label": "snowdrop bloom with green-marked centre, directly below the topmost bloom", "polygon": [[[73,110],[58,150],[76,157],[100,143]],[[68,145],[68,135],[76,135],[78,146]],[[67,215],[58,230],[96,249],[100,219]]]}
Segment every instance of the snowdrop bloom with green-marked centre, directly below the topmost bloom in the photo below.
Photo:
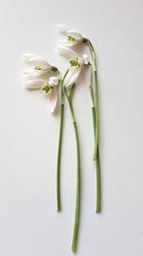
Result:
{"label": "snowdrop bloom with green-marked centre, directly below the topmost bloom", "polygon": [[78,79],[82,67],[90,64],[89,57],[87,55],[83,55],[82,58],[79,58],[72,49],[61,45],[57,46],[57,51],[61,56],[68,58],[70,61],[71,67],[64,80],[64,85],[67,88],[71,88],[72,84]]}

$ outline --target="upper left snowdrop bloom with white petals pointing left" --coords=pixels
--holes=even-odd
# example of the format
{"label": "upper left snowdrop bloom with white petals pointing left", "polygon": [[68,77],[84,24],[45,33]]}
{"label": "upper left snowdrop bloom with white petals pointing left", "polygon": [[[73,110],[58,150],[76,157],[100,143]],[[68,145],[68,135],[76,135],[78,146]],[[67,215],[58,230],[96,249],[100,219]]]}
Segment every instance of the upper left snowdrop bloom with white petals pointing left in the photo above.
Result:
{"label": "upper left snowdrop bloom with white petals pointing left", "polygon": [[48,80],[50,72],[57,72],[56,67],[51,66],[45,59],[35,55],[23,55],[24,62],[28,65],[28,69],[23,71],[23,83],[28,89],[39,89]]}

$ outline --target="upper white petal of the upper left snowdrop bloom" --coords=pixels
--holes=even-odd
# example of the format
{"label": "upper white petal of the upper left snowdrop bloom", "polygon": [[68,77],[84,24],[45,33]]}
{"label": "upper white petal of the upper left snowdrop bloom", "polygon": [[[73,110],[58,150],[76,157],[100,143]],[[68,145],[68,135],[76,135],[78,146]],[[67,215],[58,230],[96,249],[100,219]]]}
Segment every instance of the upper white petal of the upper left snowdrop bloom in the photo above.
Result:
{"label": "upper white petal of the upper left snowdrop bloom", "polygon": [[45,59],[40,57],[33,57],[27,60],[31,66],[35,67],[38,66],[42,69],[49,69],[51,68],[51,64],[49,64]]}

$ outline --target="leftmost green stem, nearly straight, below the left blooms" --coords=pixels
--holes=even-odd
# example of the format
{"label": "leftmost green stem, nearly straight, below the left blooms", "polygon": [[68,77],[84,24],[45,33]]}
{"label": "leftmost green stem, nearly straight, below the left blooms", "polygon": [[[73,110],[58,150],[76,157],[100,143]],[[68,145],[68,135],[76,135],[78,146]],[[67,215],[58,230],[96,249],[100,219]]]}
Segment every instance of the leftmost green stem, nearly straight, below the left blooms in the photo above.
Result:
{"label": "leftmost green stem, nearly straight, below the left blooms", "polygon": [[57,167],[56,167],[56,204],[57,212],[61,211],[61,197],[60,197],[60,166],[61,166],[61,151],[62,151],[62,137],[63,137],[63,122],[64,122],[64,87],[63,82],[68,74],[69,70],[65,73],[61,85],[61,110],[60,110],[60,125],[59,125],[59,137],[58,137],[58,150],[57,150]]}

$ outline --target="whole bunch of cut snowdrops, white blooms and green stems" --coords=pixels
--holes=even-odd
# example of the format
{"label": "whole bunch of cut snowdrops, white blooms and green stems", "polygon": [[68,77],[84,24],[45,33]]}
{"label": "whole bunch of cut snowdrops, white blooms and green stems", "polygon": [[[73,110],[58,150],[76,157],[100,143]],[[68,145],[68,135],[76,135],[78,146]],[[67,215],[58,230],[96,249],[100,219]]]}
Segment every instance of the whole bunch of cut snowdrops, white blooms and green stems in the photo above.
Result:
{"label": "whole bunch of cut snowdrops, white blooms and green stems", "polygon": [[[92,96],[92,125],[94,135],[94,151],[93,160],[96,166],[96,213],[101,210],[101,181],[100,181],[100,159],[99,159],[99,107],[98,107],[98,84],[97,84],[97,68],[95,51],[92,46],[92,42],[89,38],[84,37],[75,30],[72,30],[66,26],[58,25],[57,30],[64,35],[64,39],[60,40],[57,44],[56,50],[62,57],[67,58],[69,61],[69,67],[62,76],[59,69],[52,66],[44,58],[40,58],[36,55],[25,54],[23,59],[27,68],[23,70],[23,84],[29,90],[40,89],[48,97],[51,113],[53,113],[57,106],[58,95],[60,95],[60,126],[59,126],[59,139],[58,139],[58,151],[57,151],[57,169],[56,169],[56,195],[57,195],[57,211],[61,210],[61,197],[60,197],[60,169],[61,169],[61,151],[62,151],[62,137],[63,137],[63,121],[64,121],[64,107],[65,99],[67,99],[71,114],[72,124],[75,133],[76,140],[76,154],[77,154],[77,185],[76,185],[76,202],[75,202],[75,216],[74,227],[72,236],[72,251],[76,251],[78,227],[80,217],[80,183],[81,183],[81,168],[80,168],[80,143],[78,136],[78,128],[74,109],[72,105],[73,88],[78,82],[78,77],[81,74],[83,66],[87,67],[87,70],[91,70],[90,79],[90,93]],[[92,61],[87,54],[82,56],[78,55],[74,50],[74,46],[80,44],[82,46],[88,46],[91,54]],[[94,80],[92,79],[94,78]],[[94,86],[93,86],[94,85]],[[60,94],[58,89],[60,88]]]}

